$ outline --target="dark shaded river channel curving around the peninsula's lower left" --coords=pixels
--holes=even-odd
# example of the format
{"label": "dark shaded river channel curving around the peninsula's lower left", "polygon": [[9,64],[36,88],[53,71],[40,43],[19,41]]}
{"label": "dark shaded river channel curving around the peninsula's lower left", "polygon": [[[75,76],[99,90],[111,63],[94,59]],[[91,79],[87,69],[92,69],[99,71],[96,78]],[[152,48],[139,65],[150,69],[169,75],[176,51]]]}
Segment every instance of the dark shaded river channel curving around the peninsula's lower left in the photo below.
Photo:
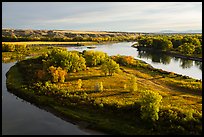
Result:
{"label": "dark shaded river channel curving around the peninsula's lower left", "polygon": [[6,72],[15,63],[2,63],[2,135],[101,135],[24,101],[6,88]]}

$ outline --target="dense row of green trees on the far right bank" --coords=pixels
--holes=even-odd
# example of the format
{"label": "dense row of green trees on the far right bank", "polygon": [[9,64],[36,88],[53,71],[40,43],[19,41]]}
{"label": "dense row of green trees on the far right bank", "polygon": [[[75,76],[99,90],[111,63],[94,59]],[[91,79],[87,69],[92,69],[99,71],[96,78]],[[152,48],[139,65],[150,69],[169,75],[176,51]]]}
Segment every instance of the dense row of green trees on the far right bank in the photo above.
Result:
{"label": "dense row of green trees on the far right bank", "polygon": [[202,34],[140,36],[138,46],[202,58]]}

